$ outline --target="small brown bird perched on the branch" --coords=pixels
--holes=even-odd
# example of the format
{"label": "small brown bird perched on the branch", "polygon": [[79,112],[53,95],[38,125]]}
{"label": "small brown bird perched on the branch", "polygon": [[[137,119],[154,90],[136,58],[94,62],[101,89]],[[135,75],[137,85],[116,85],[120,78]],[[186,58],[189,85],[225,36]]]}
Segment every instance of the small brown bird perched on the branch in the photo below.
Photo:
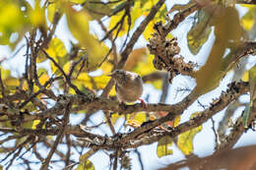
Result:
{"label": "small brown bird perched on the branch", "polygon": [[143,92],[143,81],[139,75],[124,70],[116,70],[109,76],[115,80],[116,95],[121,103],[134,102],[139,99],[142,104],[145,104],[140,99]]}

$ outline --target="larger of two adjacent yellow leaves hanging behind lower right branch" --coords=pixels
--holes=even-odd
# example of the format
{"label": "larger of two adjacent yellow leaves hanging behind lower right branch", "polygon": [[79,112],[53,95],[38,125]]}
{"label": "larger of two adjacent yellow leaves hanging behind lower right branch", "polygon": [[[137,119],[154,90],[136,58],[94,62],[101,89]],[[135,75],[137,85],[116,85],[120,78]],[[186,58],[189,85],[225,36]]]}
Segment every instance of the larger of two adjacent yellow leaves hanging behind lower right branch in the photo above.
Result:
{"label": "larger of two adjacent yellow leaves hanging behind lower right branch", "polygon": [[[191,118],[197,114],[198,112],[192,114]],[[202,127],[199,126],[178,136],[177,146],[182,151],[182,153],[188,155],[193,152],[193,139],[195,135],[198,134],[201,130]]]}

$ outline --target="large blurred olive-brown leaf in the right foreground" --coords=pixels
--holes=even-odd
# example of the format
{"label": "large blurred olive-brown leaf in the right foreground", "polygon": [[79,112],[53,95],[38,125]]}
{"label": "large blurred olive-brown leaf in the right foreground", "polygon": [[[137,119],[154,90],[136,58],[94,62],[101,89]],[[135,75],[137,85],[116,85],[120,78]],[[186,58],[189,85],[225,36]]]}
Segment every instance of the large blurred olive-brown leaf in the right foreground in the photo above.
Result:
{"label": "large blurred olive-brown leaf in the right foreground", "polygon": [[[194,89],[197,95],[202,95],[216,88],[227,71],[232,68],[231,63],[235,62],[233,56],[236,55],[232,55],[232,58],[224,57],[224,52],[226,48],[230,48],[230,41],[235,42],[234,47],[241,45],[240,39],[243,32],[239,24],[238,12],[234,8],[224,6],[210,6],[209,8],[215,9],[210,14],[213,16],[210,26],[215,27],[216,39],[206,64],[192,74],[197,83]],[[210,9],[205,9],[205,11],[209,12]]]}

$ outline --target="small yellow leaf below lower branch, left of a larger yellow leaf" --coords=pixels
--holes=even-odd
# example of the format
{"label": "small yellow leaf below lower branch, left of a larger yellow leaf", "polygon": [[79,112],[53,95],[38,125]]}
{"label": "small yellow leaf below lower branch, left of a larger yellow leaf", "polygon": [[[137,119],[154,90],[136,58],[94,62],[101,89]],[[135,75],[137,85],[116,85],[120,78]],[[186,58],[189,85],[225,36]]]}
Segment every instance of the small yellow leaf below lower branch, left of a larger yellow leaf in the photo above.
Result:
{"label": "small yellow leaf below lower branch, left of a larger yellow leaf", "polygon": [[173,153],[172,149],[168,148],[172,145],[172,143],[173,142],[172,142],[171,138],[168,136],[161,138],[158,143],[158,148],[157,148],[158,157],[172,154]]}

